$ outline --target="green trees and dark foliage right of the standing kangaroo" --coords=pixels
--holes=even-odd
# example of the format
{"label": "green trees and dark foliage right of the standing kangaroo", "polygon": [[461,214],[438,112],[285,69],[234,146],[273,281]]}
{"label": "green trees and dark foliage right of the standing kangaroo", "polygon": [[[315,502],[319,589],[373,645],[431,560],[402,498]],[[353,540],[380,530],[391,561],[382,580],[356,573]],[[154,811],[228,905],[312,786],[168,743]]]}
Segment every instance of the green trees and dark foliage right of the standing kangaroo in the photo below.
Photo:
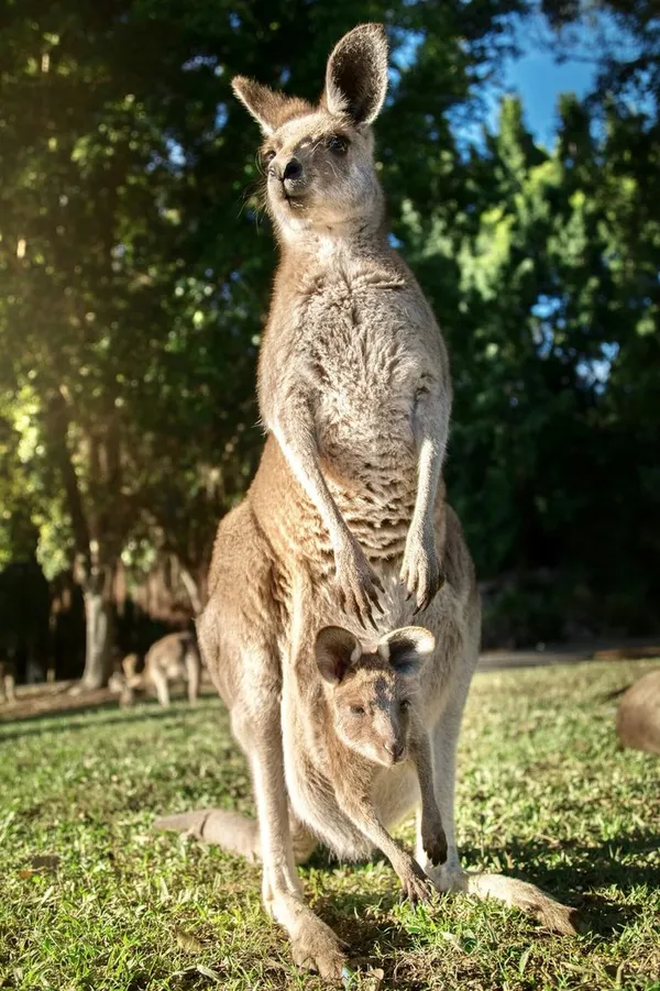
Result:
{"label": "green trees and dark foliage right of the standing kangaroo", "polygon": [[[630,154],[644,128],[612,108],[596,136],[566,97],[548,152],[506,100],[470,163],[469,211],[432,214],[430,233],[407,220],[453,356],[451,498],[482,576],[560,575],[554,636],[562,612],[586,629],[656,623],[660,217]],[[571,591],[585,582],[588,604]],[[518,642],[548,636],[519,618]]]}

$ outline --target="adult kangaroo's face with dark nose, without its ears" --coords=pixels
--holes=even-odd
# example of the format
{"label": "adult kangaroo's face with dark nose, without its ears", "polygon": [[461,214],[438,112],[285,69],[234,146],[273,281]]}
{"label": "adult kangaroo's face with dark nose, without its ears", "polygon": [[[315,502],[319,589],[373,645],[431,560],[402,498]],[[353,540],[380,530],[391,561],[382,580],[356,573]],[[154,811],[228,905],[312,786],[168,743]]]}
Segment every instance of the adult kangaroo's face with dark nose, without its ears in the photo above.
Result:
{"label": "adult kangaroo's face with dark nose, without its ears", "polygon": [[369,128],[324,111],[278,128],[261,150],[268,209],[287,240],[377,222],[382,194]]}

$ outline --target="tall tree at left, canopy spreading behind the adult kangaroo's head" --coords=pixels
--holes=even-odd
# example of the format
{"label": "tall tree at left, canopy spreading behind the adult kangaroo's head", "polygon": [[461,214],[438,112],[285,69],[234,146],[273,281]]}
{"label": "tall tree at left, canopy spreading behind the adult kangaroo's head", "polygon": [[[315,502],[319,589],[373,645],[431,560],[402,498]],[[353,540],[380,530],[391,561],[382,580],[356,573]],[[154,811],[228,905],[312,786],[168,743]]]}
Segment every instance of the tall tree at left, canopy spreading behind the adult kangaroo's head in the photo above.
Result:
{"label": "tall tree at left, canopy spreading behind the adult kangaroo's head", "polygon": [[33,456],[21,471],[42,495],[42,560],[54,571],[75,559],[82,583],[87,685],[109,672],[120,558],[175,553],[199,605],[213,517],[244,489],[260,445],[254,362],[273,247],[254,236],[257,139],[229,79],[279,78],[314,98],[339,35],[385,16],[398,67],[380,133],[396,218],[404,177],[414,202],[459,189],[449,114],[517,8],[3,5],[0,395],[25,410]]}

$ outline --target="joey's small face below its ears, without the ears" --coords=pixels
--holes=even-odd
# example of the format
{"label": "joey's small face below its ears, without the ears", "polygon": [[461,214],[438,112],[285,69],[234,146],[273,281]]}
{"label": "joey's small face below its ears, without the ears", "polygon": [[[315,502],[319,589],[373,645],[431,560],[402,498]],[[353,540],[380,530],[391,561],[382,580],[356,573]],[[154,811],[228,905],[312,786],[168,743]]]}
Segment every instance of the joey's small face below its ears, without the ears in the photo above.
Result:
{"label": "joey's small face below its ears, without the ears", "polygon": [[389,768],[406,760],[414,681],[397,676],[380,658],[363,656],[331,693],[339,739],[373,763]]}

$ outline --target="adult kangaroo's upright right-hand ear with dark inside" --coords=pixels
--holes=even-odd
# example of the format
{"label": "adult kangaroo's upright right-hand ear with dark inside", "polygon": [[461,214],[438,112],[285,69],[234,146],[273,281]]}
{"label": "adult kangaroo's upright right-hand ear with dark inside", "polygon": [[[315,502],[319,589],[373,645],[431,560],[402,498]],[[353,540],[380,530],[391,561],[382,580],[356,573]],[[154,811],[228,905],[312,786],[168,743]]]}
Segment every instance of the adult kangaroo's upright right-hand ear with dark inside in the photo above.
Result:
{"label": "adult kangaroo's upright right-hand ear with dark inside", "polygon": [[337,43],[326,69],[323,102],[330,113],[348,113],[371,124],[387,92],[387,37],[382,24],[360,24]]}

